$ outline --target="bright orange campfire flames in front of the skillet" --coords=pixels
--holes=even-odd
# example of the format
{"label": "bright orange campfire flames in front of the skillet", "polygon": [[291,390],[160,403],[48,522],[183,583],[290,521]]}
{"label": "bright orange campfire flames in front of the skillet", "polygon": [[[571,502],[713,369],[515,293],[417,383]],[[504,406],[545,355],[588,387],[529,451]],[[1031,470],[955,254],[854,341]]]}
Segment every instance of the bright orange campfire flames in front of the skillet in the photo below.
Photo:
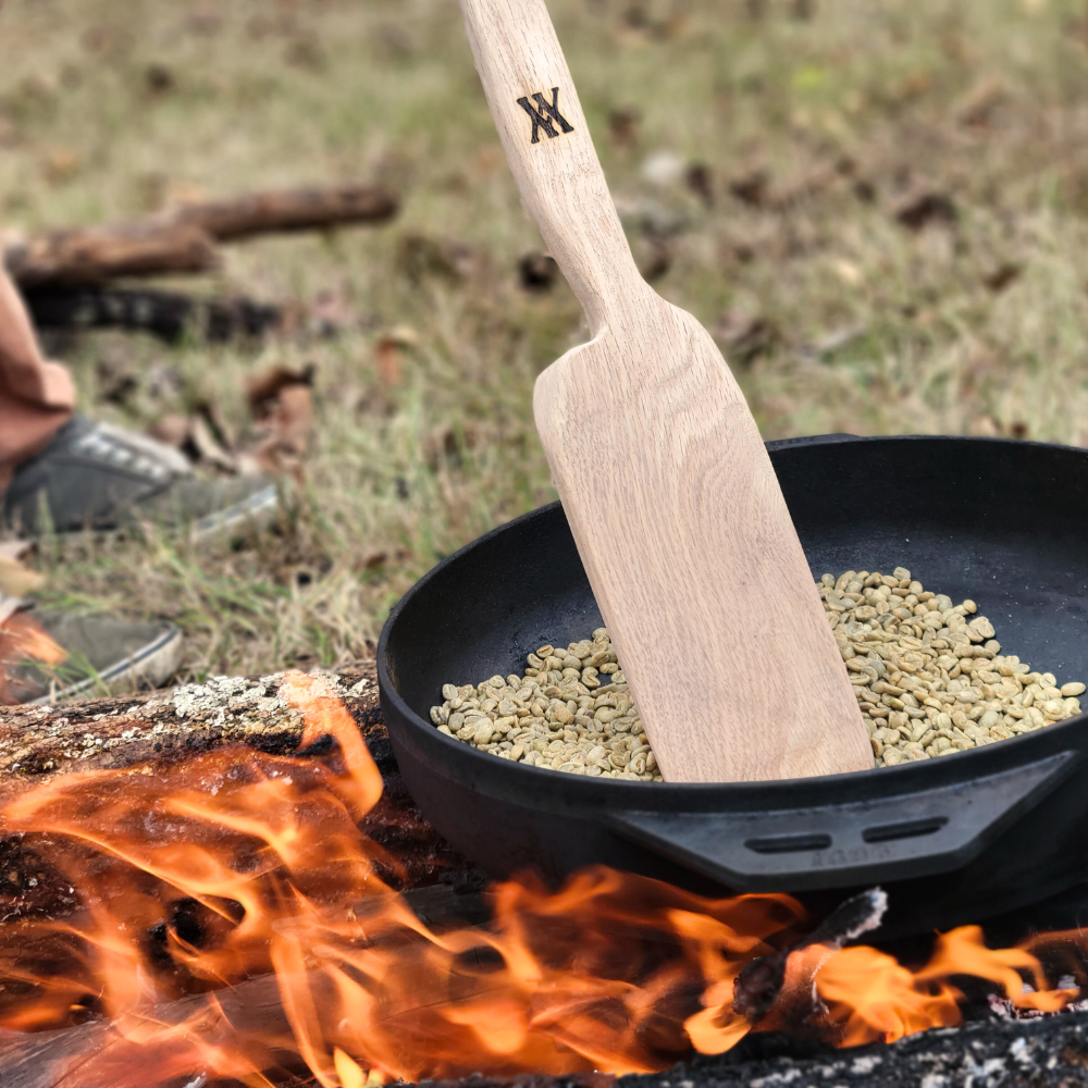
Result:
{"label": "bright orange campfire flames in front of the skillet", "polygon": [[[4,911],[0,1029],[75,1025],[65,1060],[81,1085],[650,1072],[791,1017],[843,1046],[957,1024],[959,976],[1021,1009],[1077,996],[1049,987],[1038,945],[991,950],[977,927],[911,969],[873,948],[805,945],[788,895],[713,900],[604,867],[555,892],[495,885],[489,925],[430,927],[359,830],[382,779],[344,704],[299,673],[281,695],[305,713],[302,745],[331,735],[331,754],[221,749],[69,775],[0,813],[3,836],[29,837],[79,897],[63,920]],[[734,985],[775,954],[781,991],[753,1025]]]}

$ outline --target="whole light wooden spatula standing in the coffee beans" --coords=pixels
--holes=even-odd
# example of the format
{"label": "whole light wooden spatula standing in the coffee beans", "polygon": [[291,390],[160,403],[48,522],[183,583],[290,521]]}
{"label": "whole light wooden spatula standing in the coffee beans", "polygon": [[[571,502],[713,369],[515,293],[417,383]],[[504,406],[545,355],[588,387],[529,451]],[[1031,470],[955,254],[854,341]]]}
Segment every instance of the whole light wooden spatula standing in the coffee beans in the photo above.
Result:
{"label": "whole light wooden spatula standing in the coffee beans", "polygon": [[755,420],[702,325],[640,276],[543,0],[461,9],[522,198],[593,333],[540,375],[533,407],[662,774],[871,768]]}

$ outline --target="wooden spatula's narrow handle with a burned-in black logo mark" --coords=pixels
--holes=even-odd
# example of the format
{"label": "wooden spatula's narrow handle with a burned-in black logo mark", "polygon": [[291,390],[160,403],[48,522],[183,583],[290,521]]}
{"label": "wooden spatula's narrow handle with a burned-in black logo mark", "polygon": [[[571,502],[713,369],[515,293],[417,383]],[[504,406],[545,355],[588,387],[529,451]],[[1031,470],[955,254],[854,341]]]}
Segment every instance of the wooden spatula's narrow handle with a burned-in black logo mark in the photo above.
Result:
{"label": "wooden spatula's narrow handle with a burned-in black logo mark", "polygon": [[460,0],[510,169],[594,334],[648,292],[544,0]]}

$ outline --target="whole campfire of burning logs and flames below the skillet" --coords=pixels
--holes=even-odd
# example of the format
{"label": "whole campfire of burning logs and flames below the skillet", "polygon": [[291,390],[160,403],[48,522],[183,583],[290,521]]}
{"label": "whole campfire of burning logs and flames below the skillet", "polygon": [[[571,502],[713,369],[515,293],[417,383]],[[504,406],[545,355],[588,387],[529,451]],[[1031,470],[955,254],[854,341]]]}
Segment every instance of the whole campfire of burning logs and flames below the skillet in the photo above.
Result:
{"label": "whole campfire of burning logs and flames below the skillet", "polygon": [[[368,663],[0,710],[2,1088],[1088,1084],[1077,932],[961,927],[907,967],[843,948],[878,891],[816,925],[604,867],[484,900],[404,792],[375,688]],[[1004,994],[990,1019],[920,1034],[962,1023],[963,976]]]}

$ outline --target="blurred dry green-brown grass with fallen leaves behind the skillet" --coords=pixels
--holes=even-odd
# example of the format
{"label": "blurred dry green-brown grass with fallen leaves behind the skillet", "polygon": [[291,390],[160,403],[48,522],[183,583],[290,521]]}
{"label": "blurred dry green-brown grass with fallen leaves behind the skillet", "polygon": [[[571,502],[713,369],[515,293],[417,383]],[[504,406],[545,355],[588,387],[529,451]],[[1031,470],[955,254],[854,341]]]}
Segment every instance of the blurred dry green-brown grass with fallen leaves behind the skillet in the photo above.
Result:
{"label": "blurred dry green-brown grass with fallen leaves behind the skillet", "polygon": [[[1088,442],[1079,0],[548,7],[636,257],[667,256],[655,286],[718,336],[765,436]],[[299,307],[332,294],[353,313],[336,337],[51,344],[82,409],[137,430],[207,400],[244,429],[245,378],[270,366],[312,363],[317,386],[273,531],[48,542],[49,599],[177,620],[184,678],[334,665],[438,558],[554,497],[532,383],[584,323],[561,282],[520,285],[541,243],[452,0],[8,0],[0,146],[8,227],[335,180],[404,199],[380,228],[233,246],[199,282]],[[904,226],[927,193],[951,212]],[[395,326],[418,342],[382,366]]]}

